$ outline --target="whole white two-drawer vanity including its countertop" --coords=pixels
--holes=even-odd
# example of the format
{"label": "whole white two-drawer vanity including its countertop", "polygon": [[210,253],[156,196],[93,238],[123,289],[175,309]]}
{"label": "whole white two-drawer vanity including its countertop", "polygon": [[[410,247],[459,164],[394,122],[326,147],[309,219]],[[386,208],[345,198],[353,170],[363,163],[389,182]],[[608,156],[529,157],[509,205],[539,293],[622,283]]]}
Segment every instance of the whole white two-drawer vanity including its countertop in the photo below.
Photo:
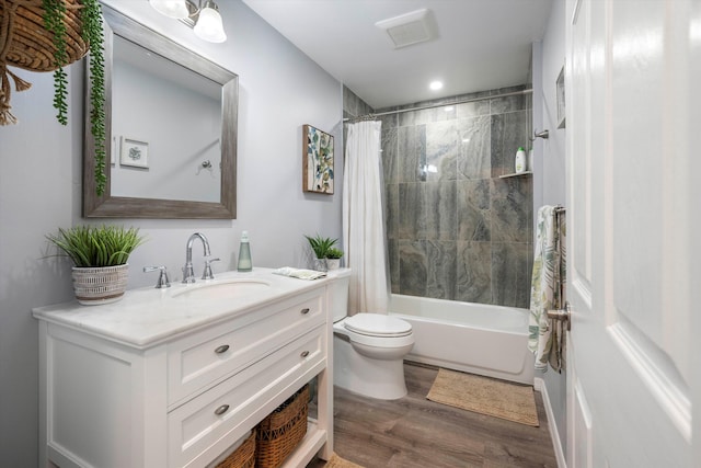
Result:
{"label": "whole white two-drawer vanity including its countertop", "polygon": [[43,466],[206,467],[314,376],[318,419],[285,466],[331,456],[333,279],[257,275],[264,297],[223,306],[137,289],[35,309]]}

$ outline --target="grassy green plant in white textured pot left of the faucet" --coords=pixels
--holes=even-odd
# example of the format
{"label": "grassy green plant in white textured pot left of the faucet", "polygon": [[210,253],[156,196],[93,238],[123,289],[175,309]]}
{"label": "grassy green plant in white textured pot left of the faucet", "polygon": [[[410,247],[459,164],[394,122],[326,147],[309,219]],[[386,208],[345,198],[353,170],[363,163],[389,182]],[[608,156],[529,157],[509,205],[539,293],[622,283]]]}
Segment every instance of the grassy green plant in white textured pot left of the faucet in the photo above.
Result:
{"label": "grassy green plant in white textured pot left of the faucet", "polygon": [[145,241],[137,228],[105,225],[59,228],[46,238],[73,262],[76,298],[87,306],[114,303],[124,296],[127,261]]}

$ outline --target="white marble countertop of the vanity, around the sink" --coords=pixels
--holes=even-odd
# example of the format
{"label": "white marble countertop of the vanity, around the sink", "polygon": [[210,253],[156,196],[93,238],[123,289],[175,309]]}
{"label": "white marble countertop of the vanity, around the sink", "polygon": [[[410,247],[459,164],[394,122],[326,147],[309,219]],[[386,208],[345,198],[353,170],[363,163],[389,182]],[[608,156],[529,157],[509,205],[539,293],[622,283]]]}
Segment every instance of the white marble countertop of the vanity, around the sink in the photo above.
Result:
{"label": "white marble countertop of the vanity, around the sink", "polygon": [[[318,288],[334,277],[330,274],[325,278],[304,281],[277,275],[273,271],[256,267],[249,273],[217,273],[215,279],[197,279],[189,285],[173,283],[162,289],[129,289],[122,300],[113,304],[82,306],[73,300],[38,307],[32,312],[39,320],[88,331],[133,347],[148,349],[185,332],[243,315],[251,308]],[[222,285],[223,289],[219,289]],[[240,285],[243,293],[229,294],[226,285]],[[205,292],[205,288],[210,289]]]}

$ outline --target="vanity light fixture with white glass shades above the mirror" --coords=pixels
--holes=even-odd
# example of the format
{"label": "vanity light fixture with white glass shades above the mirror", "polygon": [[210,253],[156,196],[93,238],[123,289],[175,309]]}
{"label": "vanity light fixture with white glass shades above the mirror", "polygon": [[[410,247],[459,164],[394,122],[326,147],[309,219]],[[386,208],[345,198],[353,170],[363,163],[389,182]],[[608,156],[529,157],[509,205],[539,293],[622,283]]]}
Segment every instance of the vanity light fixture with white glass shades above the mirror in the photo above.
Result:
{"label": "vanity light fixture with white glass shades above the mirror", "polygon": [[168,18],[181,20],[193,28],[195,35],[210,43],[227,41],[219,7],[212,0],[149,0],[156,11]]}

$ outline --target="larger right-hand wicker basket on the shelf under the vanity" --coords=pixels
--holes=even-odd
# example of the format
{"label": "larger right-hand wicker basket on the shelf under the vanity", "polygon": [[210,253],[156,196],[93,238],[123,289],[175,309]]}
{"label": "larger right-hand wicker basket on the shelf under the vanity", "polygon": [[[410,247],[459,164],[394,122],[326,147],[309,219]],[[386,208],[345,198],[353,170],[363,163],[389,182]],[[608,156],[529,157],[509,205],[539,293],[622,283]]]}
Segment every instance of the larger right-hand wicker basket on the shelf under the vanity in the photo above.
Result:
{"label": "larger right-hand wicker basket on the shelf under the vanity", "polygon": [[257,425],[255,466],[277,468],[307,434],[309,385],[304,385]]}

